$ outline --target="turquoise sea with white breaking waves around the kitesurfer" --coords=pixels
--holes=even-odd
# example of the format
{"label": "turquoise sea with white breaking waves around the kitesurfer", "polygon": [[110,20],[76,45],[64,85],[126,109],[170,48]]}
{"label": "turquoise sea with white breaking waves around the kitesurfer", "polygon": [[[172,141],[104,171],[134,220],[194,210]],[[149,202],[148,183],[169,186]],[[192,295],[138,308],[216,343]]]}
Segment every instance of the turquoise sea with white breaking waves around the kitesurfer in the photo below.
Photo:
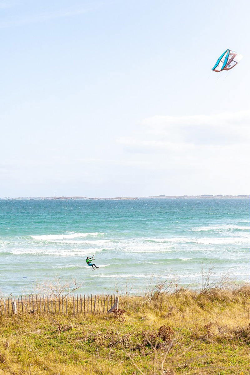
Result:
{"label": "turquoise sea with white breaking waves around the kitesurfer", "polygon": [[197,283],[210,260],[214,278],[249,279],[249,199],[0,200],[2,295],[58,276],[140,293],[152,275]]}

